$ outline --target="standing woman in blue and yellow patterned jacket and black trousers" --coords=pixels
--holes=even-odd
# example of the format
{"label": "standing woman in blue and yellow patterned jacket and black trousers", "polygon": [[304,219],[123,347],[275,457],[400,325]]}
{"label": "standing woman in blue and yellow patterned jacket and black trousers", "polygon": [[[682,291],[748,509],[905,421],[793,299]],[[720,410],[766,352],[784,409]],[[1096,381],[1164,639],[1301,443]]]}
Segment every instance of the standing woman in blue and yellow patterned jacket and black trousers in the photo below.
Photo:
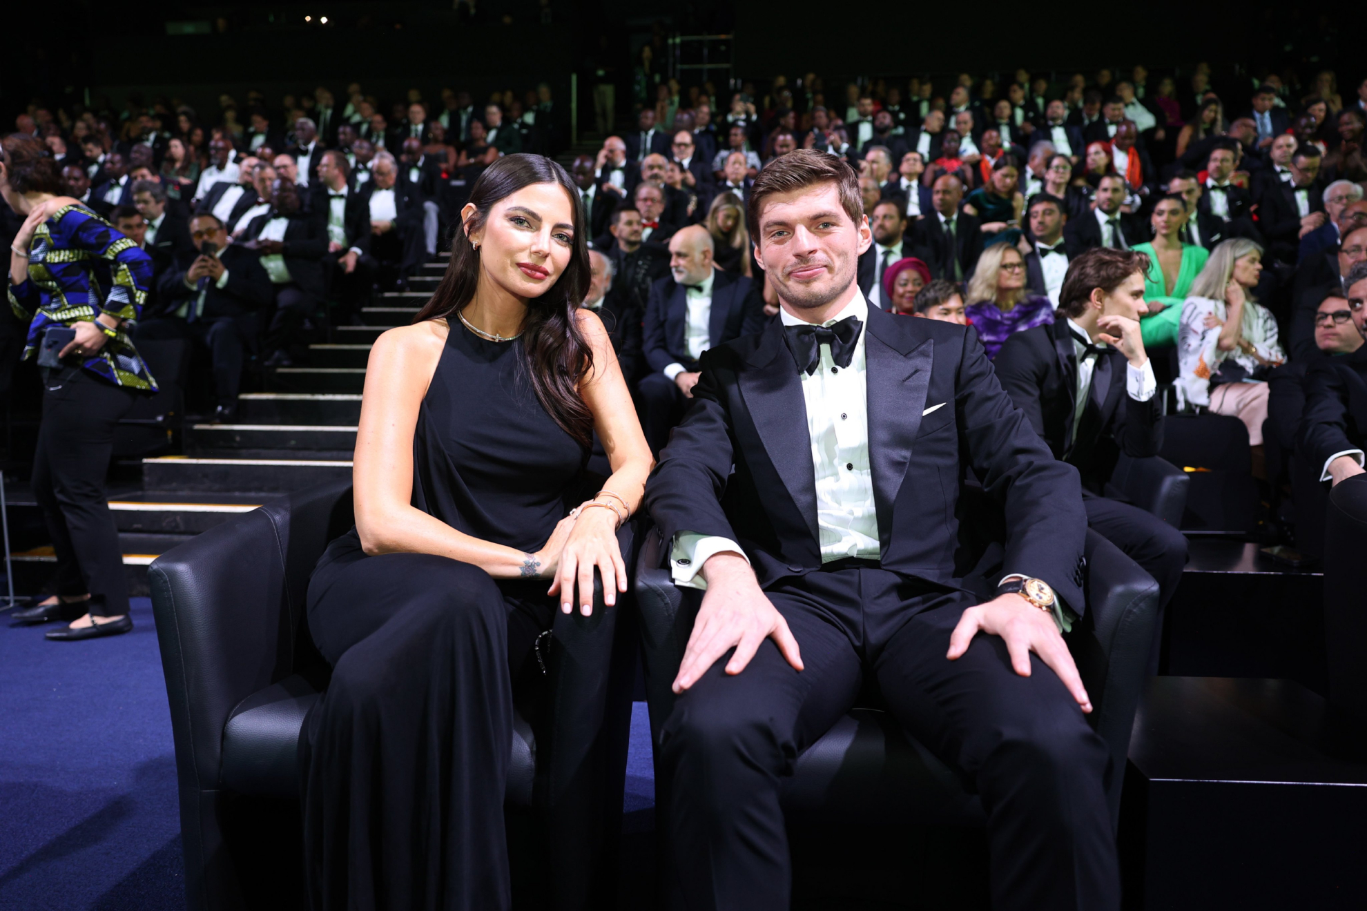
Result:
{"label": "standing woman in blue and yellow patterned jacket and black trousers", "polygon": [[37,141],[0,142],[0,195],[25,219],[10,249],[10,306],[29,322],[25,358],[49,329],[75,332],[42,366],[42,421],[33,492],[57,555],[57,595],[15,616],[71,620],[49,639],[93,639],[133,628],[119,533],[104,478],[113,429],[156,381],[128,335],[146,298],[152,260],[63,195],[56,163]]}

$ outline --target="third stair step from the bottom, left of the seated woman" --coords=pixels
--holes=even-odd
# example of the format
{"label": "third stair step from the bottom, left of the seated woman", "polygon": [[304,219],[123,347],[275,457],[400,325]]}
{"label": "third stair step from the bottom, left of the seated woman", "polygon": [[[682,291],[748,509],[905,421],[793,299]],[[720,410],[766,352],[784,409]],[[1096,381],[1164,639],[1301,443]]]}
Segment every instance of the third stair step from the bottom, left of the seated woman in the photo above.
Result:
{"label": "third stair step from the bottom, left of the seated woman", "polygon": [[187,459],[142,460],[149,490],[288,493],[351,477],[351,463],[323,459]]}

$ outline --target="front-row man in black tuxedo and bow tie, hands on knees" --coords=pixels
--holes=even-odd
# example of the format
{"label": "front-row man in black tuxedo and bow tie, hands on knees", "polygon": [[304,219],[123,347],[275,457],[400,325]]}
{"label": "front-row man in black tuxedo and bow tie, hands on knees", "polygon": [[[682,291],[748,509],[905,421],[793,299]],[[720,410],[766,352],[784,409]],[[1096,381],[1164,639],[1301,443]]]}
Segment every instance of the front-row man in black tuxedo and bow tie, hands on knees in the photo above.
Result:
{"label": "front-row man in black tuxedo and bow tie, hands on knees", "polygon": [[[781,776],[876,682],[976,784],[995,908],[1118,908],[1107,750],[1059,634],[1062,605],[1085,609],[1076,468],[975,332],[868,307],[853,169],[783,156],[749,228],[781,320],[703,356],[645,490],[675,583],[707,587],[658,755],[684,904],[789,907]],[[956,563],[968,470],[1006,516],[977,605]]]}

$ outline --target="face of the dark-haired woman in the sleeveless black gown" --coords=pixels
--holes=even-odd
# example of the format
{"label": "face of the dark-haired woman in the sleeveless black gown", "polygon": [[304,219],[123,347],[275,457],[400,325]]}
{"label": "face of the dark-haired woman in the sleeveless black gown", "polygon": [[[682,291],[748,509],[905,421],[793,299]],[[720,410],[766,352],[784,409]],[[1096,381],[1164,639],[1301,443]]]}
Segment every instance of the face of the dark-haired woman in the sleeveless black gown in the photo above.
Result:
{"label": "face of the dark-haired woman in the sleeveless black gown", "polygon": [[[468,205],[462,217],[473,213]],[[556,183],[533,183],[499,199],[470,235],[480,246],[481,277],[524,300],[541,296],[570,264],[573,225],[574,204]]]}

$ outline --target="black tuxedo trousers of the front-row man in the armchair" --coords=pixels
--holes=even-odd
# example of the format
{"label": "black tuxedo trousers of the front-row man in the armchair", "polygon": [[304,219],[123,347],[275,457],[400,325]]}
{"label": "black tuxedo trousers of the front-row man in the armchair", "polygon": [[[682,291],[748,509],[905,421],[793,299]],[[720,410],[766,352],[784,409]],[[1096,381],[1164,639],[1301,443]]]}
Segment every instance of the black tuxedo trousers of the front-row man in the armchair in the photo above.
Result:
{"label": "black tuxedo trousers of the front-row man in the armchair", "polygon": [[787,911],[791,867],[779,779],[867,683],[961,779],[987,813],[998,911],[1114,910],[1120,870],[1106,804],[1109,750],[1058,676],[979,634],[956,661],[949,639],[966,593],[845,560],[766,593],[801,649],[772,639],[738,675],[730,653],[678,697],[662,728],[671,776],[670,843],[690,911]]}

